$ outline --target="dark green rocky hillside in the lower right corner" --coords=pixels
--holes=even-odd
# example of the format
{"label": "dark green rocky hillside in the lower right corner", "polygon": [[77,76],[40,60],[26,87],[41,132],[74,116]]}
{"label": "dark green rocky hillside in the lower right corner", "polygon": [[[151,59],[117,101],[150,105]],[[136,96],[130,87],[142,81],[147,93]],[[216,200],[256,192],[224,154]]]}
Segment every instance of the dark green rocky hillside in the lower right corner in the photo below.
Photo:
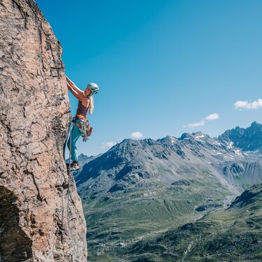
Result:
{"label": "dark green rocky hillside in the lower right corner", "polygon": [[[124,261],[262,261],[262,185],[245,205],[207,212],[154,238],[119,249]],[[244,201],[245,202],[245,201]]]}

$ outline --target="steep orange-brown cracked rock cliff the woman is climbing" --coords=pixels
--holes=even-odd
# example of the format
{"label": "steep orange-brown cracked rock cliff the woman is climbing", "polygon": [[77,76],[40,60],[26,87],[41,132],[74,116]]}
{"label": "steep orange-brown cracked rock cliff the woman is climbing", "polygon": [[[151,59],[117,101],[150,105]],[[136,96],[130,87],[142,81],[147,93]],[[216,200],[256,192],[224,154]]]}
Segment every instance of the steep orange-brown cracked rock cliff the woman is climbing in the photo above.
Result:
{"label": "steep orange-brown cracked rock cliff the woman is climbing", "polygon": [[33,0],[0,0],[0,261],[87,259],[73,181],[67,205],[69,105],[50,24]]}

